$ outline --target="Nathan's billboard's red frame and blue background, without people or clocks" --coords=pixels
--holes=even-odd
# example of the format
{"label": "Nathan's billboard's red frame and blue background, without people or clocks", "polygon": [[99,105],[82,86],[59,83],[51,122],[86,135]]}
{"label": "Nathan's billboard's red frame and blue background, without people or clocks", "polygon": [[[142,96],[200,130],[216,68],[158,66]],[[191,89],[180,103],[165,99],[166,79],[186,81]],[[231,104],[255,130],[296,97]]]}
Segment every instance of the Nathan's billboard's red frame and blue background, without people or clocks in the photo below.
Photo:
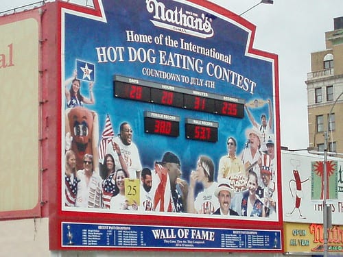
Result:
{"label": "Nathan's billboard's red frame and blue background, without people or clocks", "polygon": [[[182,178],[188,181],[189,173],[196,168],[198,156],[204,154],[213,160],[216,177],[219,159],[226,154],[228,136],[234,136],[237,140],[237,155],[244,150],[245,130],[252,126],[248,115],[234,117],[211,112],[211,109],[189,110],[185,106],[154,103],[151,99],[139,101],[116,97],[115,82],[118,79],[115,77],[119,76],[121,80],[123,77],[132,79],[132,85],[137,85],[137,82],[165,85],[167,92],[173,92],[170,88],[180,88],[176,93],[191,95],[193,98],[220,101],[220,97],[224,97],[222,101],[239,105],[255,99],[270,99],[274,119],[276,178],[281,178],[278,58],[272,53],[253,49],[255,25],[208,1],[132,0],[123,5],[121,1],[99,0],[94,3],[95,8],[61,2],[57,4],[63,53],[60,84],[63,85],[64,80],[71,77],[77,60],[94,65],[96,73],[93,74],[93,92],[96,101],[93,105],[85,106],[97,114],[99,138],[106,116],[109,115],[115,134],[119,132],[119,124],[124,121],[132,126],[133,140],[139,149],[143,167],[154,169],[154,162],[160,161],[165,151],[172,151],[180,158]],[[153,5],[160,8],[164,6],[166,15],[182,12],[182,15],[193,17],[189,19],[201,18],[204,24],[198,27],[198,31],[171,24],[167,16],[165,19],[159,16],[162,9],[159,14],[152,10]],[[86,85],[88,77],[83,78],[82,85]],[[188,94],[189,90],[191,94]],[[81,92],[87,95],[88,88],[84,86]],[[263,219],[239,216],[230,218],[229,225],[227,219],[222,217],[187,213],[115,213],[108,210],[65,208],[62,195],[64,112],[67,104],[63,90],[60,93],[61,172],[56,176],[60,185],[57,186],[57,201],[51,205],[56,206],[56,210],[49,210],[50,249],[283,252],[280,182],[276,183],[279,192],[277,217]],[[259,112],[268,113],[268,106],[263,106]],[[165,131],[146,133],[144,121],[147,113],[177,117],[180,128],[178,136],[163,135]],[[235,114],[235,111],[230,110],[231,113]],[[194,122],[200,122],[201,125],[201,121],[214,124],[210,127],[216,129],[216,140],[187,138],[186,125]],[[203,135],[204,138],[206,136]],[[154,144],[154,147],[150,144]],[[123,243],[125,236],[122,235],[128,231],[132,232],[129,238],[134,243]],[[59,236],[56,237],[56,233]],[[156,236],[156,233],[160,233],[160,236]],[[191,238],[191,233],[200,237]],[[186,234],[190,237],[186,238]],[[110,236],[110,240],[114,240],[114,235],[117,238],[121,235],[121,241],[110,241],[108,245],[106,238]],[[206,236],[211,235],[213,237],[209,240]],[[246,242],[248,235],[255,235],[250,237],[250,241],[255,243],[235,245],[234,242],[244,242],[237,235],[244,236]],[[146,241],[142,238],[150,239]],[[187,242],[188,239],[193,240],[193,243]]]}

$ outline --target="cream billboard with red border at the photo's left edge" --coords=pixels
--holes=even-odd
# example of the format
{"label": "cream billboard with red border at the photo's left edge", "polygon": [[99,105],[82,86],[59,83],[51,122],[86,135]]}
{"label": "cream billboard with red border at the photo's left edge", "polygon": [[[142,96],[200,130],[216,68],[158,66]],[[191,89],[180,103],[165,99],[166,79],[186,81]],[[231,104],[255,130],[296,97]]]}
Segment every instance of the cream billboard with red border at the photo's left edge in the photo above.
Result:
{"label": "cream billboard with red border at the photo's left edge", "polygon": [[40,25],[34,11],[0,19],[0,219],[41,215]]}

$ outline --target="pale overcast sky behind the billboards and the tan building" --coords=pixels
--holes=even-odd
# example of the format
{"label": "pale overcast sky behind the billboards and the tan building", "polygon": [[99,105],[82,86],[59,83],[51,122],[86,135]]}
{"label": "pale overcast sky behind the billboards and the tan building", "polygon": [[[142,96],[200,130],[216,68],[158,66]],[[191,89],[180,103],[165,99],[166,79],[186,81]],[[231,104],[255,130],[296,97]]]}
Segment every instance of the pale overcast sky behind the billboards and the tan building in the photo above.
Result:
{"label": "pale overcast sky behind the billboards and the tan building", "polygon": [[[0,12],[35,2],[2,1]],[[241,14],[260,0],[211,2]],[[257,27],[254,48],[279,56],[281,145],[305,149],[309,145],[305,81],[311,53],[325,49],[324,33],[333,30],[334,18],[343,16],[343,0],[274,0],[242,16]]]}

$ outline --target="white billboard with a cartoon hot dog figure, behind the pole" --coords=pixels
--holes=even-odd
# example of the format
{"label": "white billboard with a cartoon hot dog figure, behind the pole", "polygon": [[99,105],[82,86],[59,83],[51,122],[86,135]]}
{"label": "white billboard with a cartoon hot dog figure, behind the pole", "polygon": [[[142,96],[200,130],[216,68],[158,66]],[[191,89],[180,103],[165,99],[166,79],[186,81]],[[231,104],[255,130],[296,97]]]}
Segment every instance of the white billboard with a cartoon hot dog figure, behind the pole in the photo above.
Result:
{"label": "white billboard with a cartoon hot dog figure, behind the pole", "polygon": [[[308,153],[282,152],[284,221],[322,223],[323,157]],[[327,204],[331,206],[332,223],[342,225],[343,175],[342,159],[327,160]]]}

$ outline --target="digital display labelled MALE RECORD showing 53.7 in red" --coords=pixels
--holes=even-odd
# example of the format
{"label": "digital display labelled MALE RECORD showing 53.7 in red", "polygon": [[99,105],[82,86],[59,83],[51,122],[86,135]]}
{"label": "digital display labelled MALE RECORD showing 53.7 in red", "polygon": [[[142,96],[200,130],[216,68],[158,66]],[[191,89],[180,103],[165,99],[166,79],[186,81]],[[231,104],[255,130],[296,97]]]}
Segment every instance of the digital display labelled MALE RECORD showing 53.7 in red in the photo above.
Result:
{"label": "digital display labelled MALE RECORD showing 53.7 in red", "polygon": [[202,121],[198,119],[186,119],[186,138],[192,140],[217,142],[218,123],[214,121]]}

